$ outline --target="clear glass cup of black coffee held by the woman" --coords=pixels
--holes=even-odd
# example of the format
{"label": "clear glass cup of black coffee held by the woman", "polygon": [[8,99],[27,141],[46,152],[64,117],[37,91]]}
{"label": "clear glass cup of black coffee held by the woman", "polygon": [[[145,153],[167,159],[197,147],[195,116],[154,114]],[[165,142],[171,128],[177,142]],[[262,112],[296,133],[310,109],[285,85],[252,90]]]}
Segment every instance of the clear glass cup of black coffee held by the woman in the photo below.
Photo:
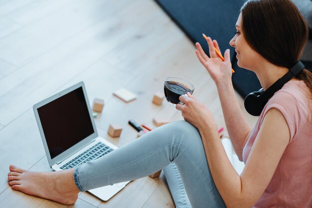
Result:
{"label": "clear glass cup of black coffee held by the woman", "polygon": [[179,97],[189,92],[194,92],[194,86],[181,78],[167,77],[163,84],[164,96],[173,105],[180,103]]}

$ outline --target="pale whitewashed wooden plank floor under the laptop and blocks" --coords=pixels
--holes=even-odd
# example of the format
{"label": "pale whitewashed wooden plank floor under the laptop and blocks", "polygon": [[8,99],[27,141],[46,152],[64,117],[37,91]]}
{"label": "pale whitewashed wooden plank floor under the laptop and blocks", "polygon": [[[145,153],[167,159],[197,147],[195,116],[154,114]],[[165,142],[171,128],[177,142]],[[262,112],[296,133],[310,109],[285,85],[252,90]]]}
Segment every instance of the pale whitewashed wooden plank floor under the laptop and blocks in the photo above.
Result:
{"label": "pale whitewashed wooden plank floor under the laptop and blocks", "polygon": [[[117,146],[136,139],[129,119],[153,128],[154,117],[182,119],[174,106],[151,102],[167,76],[193,83],[194,95],[225,127],[214,83],[194,50],[153,0],[1,0],[0,207],[174,208],[163,178],[135,180],[108,202],[82,193],[75,205],[65,206],[11,190],[7,173],[10,164],[52,171],[32,106],[79,81],[85,82],[90,102],[105,100],[96,125]],[[112,95],[122,87],[137,100],[126,104]],[[244,113],[254,124],[255,118]],[[107,135],[110,123],[123,127],[120,138]]]}

